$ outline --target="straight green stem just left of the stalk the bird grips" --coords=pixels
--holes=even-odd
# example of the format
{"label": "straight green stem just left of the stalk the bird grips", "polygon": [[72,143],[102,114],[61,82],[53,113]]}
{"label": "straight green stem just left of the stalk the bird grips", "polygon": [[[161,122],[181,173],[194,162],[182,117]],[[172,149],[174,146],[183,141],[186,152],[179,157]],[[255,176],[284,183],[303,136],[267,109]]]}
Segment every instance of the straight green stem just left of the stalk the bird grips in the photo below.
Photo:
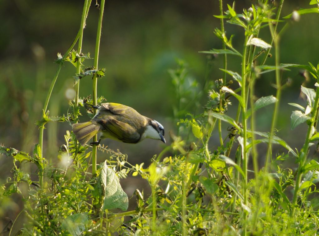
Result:
{"label": "straight green stem just left of the stalk the bird grips", "polygon": [[[81,23],[80,23],[80,35],[78,40],[78,51],[77,51],[78,55],[81,55],[82,53],[83,30],[85,27],[86,9],[88,5],[88,1],[89,0],[84,1],[83,11],[82,11],[82,17],[81,17]],[[81,72],[81,58],[78,58],[76,74],[80,74],[80,72]],[[80,80],[78,80],[76,85],[76,96],[74,99],[74,118],[78,117],[79,88],[80,88]]]}

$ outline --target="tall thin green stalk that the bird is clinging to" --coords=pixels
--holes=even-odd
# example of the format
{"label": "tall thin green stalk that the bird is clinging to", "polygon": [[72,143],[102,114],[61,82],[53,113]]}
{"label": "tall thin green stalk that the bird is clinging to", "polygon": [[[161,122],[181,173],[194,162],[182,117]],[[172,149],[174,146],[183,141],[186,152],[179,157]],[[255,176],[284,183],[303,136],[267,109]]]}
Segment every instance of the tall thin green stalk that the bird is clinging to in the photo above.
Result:
{"label": "tall thin green stalk that the bird is clinging to", "polygon": [[[105,0],[101,0],[98,29],[97,29],[97,33],[96,33],[95,53],[94,53],[94,68],[95,69],[98,69],[98,62],[99,62],[100,39],[101,39],[104,3],[105,3]],[[97,77],[96,77],[96,74],[93,75],[93,105],[94,106],[97,105]],[[96,113],[96,109],[94,108],[94,114],[95,113]],[[93,143],[95,143],[96,141],[97,141],[97,134],[94,135],[94,137],[93,137]],[[93,144],[92,174],[95,175],[95,173],[96,173],[96,144]]]}

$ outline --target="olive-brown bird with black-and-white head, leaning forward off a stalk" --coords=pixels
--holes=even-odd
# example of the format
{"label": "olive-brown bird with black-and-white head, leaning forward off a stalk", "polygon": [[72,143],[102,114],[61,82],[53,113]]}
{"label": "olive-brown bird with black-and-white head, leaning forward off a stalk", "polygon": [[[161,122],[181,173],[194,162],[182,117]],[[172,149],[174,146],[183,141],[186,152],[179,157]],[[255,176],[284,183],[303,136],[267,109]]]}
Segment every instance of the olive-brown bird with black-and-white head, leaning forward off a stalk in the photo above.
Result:
{"label": "olive-brown bird with black-and-white head, leaning forward off a stalk", "polygon": [[138,143],[143,139],[164,139],[164,127],[156,120],[141,115],[133,108],[118,103],[102,103],[93,106],[95,116],[87,122],[72,125],[73,133],[84,146],[95,134],[102,133],[99,141],[90,144],[99,145],[101,139],[109,138],[124,143]]}

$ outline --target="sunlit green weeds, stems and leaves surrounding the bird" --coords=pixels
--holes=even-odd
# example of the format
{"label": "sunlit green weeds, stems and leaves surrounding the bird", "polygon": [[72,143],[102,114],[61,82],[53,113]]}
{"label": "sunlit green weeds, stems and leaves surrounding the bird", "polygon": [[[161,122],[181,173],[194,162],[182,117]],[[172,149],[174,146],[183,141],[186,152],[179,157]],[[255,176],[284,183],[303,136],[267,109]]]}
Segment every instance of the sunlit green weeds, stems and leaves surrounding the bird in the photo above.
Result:
{"label": "sunlit green weeds, stems and leaves surrounding the bird", "polygon": [[[110,158],[94,169],[96,147],[82,147],[70,131],[64,135],[65,144],[60,147],[58,164],[43,157],[41,141],[35,146],[33,155],[0,146],[1,154],[13,158],[13,178],[8,178],[2,186],[1,195],[21,193],[23,184],[29,187],[28,195],[22,195],[25,202],[22,213],[29,221],[18,235],[317,234],[319,163],[309,155],[309,150],[311,146],[318,150],[319,64],[279,63],[282,31],[278,30],[278,25],[282,23],[283,1],[278,8],[268,1],[258,1],[240,14],[234,5],[227,4],[224,12],[222,1],[220,4],[220,15],[215,17],[220,19],[221,28],[215,29],[214,33],[222,41],[223,48],[201,53],[223,55],[221,71],[224,76],[215,78],[207,73],[200,89],[200,83],[188,76],[188,67],[183,60],[177,61],[178,68],[169,70],[176,94],[173,104],[176,129],[169,134],[171,144],[152,157],[149,167],[145,168],[144,163],[132,165],[120,151],[98,146],[97,150],[107,152]],[[310,4],[319,7],[317,0]],[[90,1],[86,0],[82,26],[89,5]],[[103,7],[104,1],[100,5],[102,13]],[[301,9],[284,18],[313,12],[318,9]],[[242,53],[233,46],[234,35],[226,35],[224,20],[243,29]],[[285,24],[283,28],[289,26],[290,21]],[[263,28],[269,29],[270,42],[259,38]],[[81,39],[79,35],[81,33],[77,38]],[[105,69],[85,68],[83,61],[90,59],[90,54],[72,50],[73,46],[64,56],[58,55],[59,68],[64,61],[69,61],[77,68],[74,77],[77,85],[88,75],[96,85],[96,78],[103,76]],[[272,49],[275,65],[266,65]],[[241,71],[227,68],[228,57],[232,56],[241,58]],[[307,125],[300,149],[290,147],[278,137],[280,132],[275,132],[281,93],[287,85],[282,77],[290,68],[307,70],[313,77],[313,88],[301,86],[306,105],[290,103],[299,109],[292,112],[291,128],[302,123]],[[264,73],[273,72],[276,94],[256,98],[254,89],[258,79],[262,79]],[[56,78],[57,75],[54,81]],[[46,105],[54,83],[51,87]],[[37,122],[39,140],[43,138],[47,122],[77,121],[81,105],[92,116],[95,105],[104,100],[96,97],[94,85],[93,91],[93,99],[80,99],[77,93],[70,102],[72,112],[63,117],[50,118],[45,105],[43,117]],[[238,104],[237,108],[234,109],[233,104]],[[270,132],[260,132],[255,127],[259,114],[256,111],[266,106],[274,107],[271,128]],[[235,112],[229,112],[233,109]],[[223,123],[228,127],[224,128]],[[211,142],[215,133],[217,144]],[[259,144],[267,147],[264,153],[258,153]],[[298,167],[284,168],[291,160]],[[21,170],[21,165],[17,164],[25,161],[36,165],[39,181],[34,181],[30,173]],[[146,196],[143,189],[135,190],[133,211],[127,211],[131,196],[127,196],[120,185],[120,179],[129,175],[140,175],[151,188],[151,194]]]}

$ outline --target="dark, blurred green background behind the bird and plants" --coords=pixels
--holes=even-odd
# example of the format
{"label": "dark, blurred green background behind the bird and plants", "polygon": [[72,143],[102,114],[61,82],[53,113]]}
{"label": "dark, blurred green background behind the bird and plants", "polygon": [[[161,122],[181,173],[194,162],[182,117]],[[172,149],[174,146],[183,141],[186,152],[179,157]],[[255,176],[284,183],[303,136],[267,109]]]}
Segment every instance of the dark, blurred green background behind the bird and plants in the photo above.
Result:
{"label": "dark, blurred green background behind the bird and plants", "polygon": [[[18,150],[31,152],[38,142],[38,128],[35,121],[41,117],[41,109],[48,92],[48,87],[55,74],[56,54],[64,54],[78,32],[83,1],[69,0],[11,0],[0,1],[0,143]],[[224,1],[232,4],[233,1]],[[236,11],[249,8],[256,1],[236,2]],[[309,8],[309,1],[285,1],[282,16],[298,8]],[[94,56],[96,26],[99,11],[92,2],[84,30],[82,52]],[[275,1],[278,4],[278,1]],[[176,59],[185,60],[189,68],[189,78],[196,79],[198,88],[202,88],[207,73],[207,55],[198,51],[221,48],[221,42],[214,35],[214,28],[219,27],[219,1],[106,1],[99,67],[106,68],[105,77],[98,80],[98,96],[104,96],[109,102],[129,105],[141,114],[154,118],[165,127],[168,144],[168,132],[176,130],[172,107],[176,105],[176,94],[168,69],[176,68]],[[291,22],[280,42],[280,62],[317,64],[319,55],[318,15],[301,16],[299,22]],[[226,24],[226,34],[235,34],[233,45],[242,50],[243,30],[235,25]],[[279,27],[280,28],[280,27]],[[270,40],[266,27],[260,34],[265,41]],[[228,57],[228,68],[240,70],[239,58]],[[274,58],[266,64],[273,65]],[[92,66],[93,60],[86,60],[85,66]],[[222,76],[222,56],[210,61],[212,72],[209,81]],[[49,104],[50,115],[62,115],[67,112],[68,100],[65,91],[73,88],[72,76],[75,68],[65,63],[57,79]],[[278,119],[278,136],[287,140],[292,147],[300,147],[304,140],[305,126],[290,129],[291,111],[288,102],[304,105],[299,96],[300,85],[312,87],[313,81],[305,81],[300,71],[293,69],[285,72],[282,80],[291,79],[291,85],[283,91],[281,109]],[[228,77],[228,79],[230,79]],[[275,94],[271,83],[275,81],[274,73],[263,74],[256,83],[256,96]],[[235,86],[234,86],[235,88]],[[92,80],[85,77],[80,81],[80,96],[92,94]],[[199,101],[206,103],[206,94]],[[234,102],[235,104],[235,102]],[[236,108],[237,109],[237,108]],[[229,108],[229,115],[236,109]],[[189,108],[188,112],[194,112]],[[234,111],[232,111],[234,110]],[[257,129],[269,131],[272,107],[257,113]],[[85,110],[80,121],[88,120]],[[58,147],[64,143],[63,134],[70,130],[67,123],[50,123],[44,133],[44,152],[48,159],[54,161]],[[225,128],[227,125],[225,125]],[[226,136],[226,131],[224,133]],[[213,137],[212,146],[216,139]],[[119,149],[128,154],[129,161],[146,162],[165,147],[156,140],[144,140],[136,145],[103,141],[114,150]],[[105,160],[105,154],[99,154],[98,163]],[[5,182],[11,176],[10,158],[0,158],[0,181]],[[136,179],[136,178],[135,178]],[[127,179],[125,181],[134,181]],[[138,184],[137,184],[138,185]],[[128,195],[138,187],[130,186]],[[15,215],[18,205],[5,199],[0,200],[0,217]],[[0,228],[1,230],[1,228]]]}

